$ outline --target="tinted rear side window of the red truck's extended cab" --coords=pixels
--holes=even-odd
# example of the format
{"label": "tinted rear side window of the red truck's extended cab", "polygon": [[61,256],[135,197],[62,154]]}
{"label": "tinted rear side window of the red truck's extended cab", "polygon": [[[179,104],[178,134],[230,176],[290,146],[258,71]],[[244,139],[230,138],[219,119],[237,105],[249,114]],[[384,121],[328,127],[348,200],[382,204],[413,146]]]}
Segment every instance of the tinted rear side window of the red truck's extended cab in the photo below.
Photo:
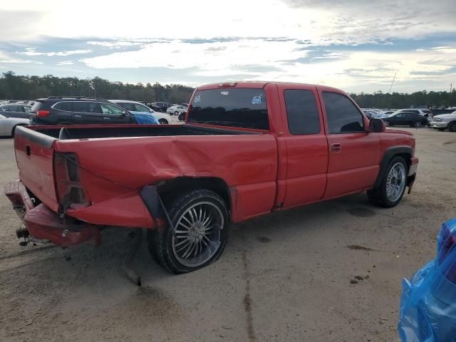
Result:
{"label": "tinted rear side window of the red truck's extended cab", "polygon": [[285,90],[286,117],[291,134],[320,132],[320,115],[310,90]]}

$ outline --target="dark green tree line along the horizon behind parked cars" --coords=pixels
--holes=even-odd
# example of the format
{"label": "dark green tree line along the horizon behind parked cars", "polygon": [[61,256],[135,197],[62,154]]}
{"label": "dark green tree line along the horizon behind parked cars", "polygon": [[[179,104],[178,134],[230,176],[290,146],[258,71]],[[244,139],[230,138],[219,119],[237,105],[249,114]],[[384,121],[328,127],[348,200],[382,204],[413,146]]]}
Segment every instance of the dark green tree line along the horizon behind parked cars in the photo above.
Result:
{"label": "dark green tree line along the horizon behind parked cars", "polygon": [[[187,103],[194,88],[160,83],[110,82],[103,78],[81,79],[76,77],[19,76],[8,71],[0,76],[0,99],[34,100],[51,95],[96,96],[137,101],[163,101]],[[351,93],[361,108],[410,108],[410,106],[456,106],[456,90],[417,91],[415,93]]]}

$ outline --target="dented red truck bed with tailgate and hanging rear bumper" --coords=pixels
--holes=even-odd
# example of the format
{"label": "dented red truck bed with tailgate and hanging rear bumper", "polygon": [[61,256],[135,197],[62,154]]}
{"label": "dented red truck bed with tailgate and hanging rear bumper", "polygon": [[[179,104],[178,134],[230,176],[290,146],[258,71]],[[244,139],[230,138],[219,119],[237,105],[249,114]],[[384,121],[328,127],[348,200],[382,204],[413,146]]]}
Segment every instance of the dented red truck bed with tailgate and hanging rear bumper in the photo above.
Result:
{"label": "dented red truck bed with tailgate and hanging rear bumper", "polygon": [[[109,226],[156,229],[165,223],[161,199],[151,204],[147,198],[161,188],[180,190],[182,180],[224,185],[235,222],[274,205],[277,152],[272,135],[54,139],[44,148],[36,139],[43,134],[23,130],[15,145],[24,179],[5,191],[26,225],[18,237],[31,234],[67,246],[89,239],[99,244],[100,229]],[[31,172],[33,167],[38,171]],[[36,184],[33,192],[28,184]]]}

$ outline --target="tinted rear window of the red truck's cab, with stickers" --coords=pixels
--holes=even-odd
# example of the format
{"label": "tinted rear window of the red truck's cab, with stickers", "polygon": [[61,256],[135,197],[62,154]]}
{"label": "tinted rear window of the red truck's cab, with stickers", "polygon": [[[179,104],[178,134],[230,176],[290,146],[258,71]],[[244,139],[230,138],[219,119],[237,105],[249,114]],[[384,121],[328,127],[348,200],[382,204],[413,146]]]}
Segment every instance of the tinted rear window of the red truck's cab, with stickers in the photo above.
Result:
{"label": "tinted rear window of the red truck's cab, with stickers", "polygon": [[198,91],[188,122],[269,130],[264,90],[218,88]]}

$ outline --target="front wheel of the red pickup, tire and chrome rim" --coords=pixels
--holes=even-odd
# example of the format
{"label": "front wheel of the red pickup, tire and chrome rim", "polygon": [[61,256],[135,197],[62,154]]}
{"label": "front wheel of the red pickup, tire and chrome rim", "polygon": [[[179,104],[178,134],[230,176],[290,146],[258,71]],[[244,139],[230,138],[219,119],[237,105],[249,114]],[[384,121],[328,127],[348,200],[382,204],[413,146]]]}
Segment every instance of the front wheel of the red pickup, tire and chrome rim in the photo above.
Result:
{"label": "front wheel of the red pickup, tire and chrome rim", "polygon": [[376,189],[368,190],[368,199],[380,207],[395,207],[402,199],[407,185],[408,167],[403,157],[393,157],[385,177]]}

